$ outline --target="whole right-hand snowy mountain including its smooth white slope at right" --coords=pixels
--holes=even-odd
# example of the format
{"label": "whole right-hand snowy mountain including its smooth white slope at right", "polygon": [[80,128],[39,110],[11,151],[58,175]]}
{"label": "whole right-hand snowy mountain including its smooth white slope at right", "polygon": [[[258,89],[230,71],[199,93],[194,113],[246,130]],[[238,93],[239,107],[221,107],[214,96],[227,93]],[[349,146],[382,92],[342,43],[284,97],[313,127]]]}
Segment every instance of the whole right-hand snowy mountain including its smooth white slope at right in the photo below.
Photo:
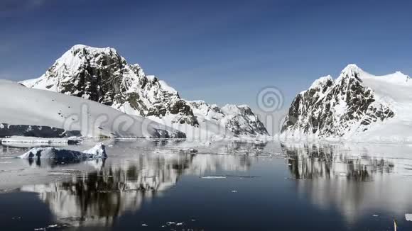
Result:
{"label": "whole right-hand snowy mountain including its smooth white slope at right", "polygon": [[281,136],[412,141],[411,92],[401,72],[374,76],[349,64],[293,99]]}

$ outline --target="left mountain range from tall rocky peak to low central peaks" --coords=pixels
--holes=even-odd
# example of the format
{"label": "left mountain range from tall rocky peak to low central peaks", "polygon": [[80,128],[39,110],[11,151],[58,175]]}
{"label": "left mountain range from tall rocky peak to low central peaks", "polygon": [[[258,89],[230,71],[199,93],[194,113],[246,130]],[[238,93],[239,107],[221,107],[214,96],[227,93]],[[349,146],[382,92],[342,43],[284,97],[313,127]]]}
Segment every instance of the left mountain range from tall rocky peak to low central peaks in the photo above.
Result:
{"label": "left mountain range from tall rocky peak to low central peaks", "polygon": [[146,75],[139,64],[127,64],[124,57],[109,47],[75,45],[41,77],[21,83],[35,89],[87,98],[130,115],[151,118],[188,133],[190,137],[268,135],[249,106],[220,109],[214,105],[213,110],[219,115],[210,118],[208,110],[199,109],[198,103],[180,98],[178,91],[165,81]]}

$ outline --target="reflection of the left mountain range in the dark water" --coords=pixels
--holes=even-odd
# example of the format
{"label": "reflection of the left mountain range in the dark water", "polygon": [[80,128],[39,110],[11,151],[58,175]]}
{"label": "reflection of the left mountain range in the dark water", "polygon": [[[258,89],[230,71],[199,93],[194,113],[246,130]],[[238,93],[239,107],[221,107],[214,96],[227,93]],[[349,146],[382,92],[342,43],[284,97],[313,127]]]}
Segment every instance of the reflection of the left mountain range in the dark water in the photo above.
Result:
{"label": "reflection of the left mountain range in the dark water", "polygon": [[58,222],[109,226],[127,211],[139,210],[144,200],[161,196],[183,174],[202,176],[217,169],[246,171],[251,165],[251,159],[244,155],[156,152],[139,154],[137,159],[120,164],[92,160],[88,164],[97,171],[72,176],[71,181],[23,186],[20,190],[38,193]]}

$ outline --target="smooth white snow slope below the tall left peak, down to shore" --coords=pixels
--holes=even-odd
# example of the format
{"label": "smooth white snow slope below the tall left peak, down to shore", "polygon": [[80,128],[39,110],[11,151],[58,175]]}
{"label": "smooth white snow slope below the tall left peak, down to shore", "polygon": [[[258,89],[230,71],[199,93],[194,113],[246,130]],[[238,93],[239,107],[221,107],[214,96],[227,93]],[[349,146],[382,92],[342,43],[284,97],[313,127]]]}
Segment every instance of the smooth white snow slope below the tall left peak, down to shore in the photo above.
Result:
{"label": "smooth white snow slope below the tall left peak, down to shore", "polygon": [[101,103],[0,80],[0,137],[185,137]]}

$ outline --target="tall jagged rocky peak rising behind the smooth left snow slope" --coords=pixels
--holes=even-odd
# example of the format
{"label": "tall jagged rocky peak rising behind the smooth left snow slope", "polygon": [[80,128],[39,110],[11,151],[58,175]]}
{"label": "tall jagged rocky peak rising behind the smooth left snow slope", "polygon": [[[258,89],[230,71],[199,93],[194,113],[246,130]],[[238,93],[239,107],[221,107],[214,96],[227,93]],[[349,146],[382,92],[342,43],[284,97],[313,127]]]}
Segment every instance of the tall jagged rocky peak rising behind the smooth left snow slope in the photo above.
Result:
{"label": "tall jagged rocky peak rising behind the smooth left snow slope", "polygon": [[170,116],[172,123],[197,126],[188,103],[166,82],[127,64],[113,48],[75,45],[28,87],[56,91],[104,103],[136,116]]}

